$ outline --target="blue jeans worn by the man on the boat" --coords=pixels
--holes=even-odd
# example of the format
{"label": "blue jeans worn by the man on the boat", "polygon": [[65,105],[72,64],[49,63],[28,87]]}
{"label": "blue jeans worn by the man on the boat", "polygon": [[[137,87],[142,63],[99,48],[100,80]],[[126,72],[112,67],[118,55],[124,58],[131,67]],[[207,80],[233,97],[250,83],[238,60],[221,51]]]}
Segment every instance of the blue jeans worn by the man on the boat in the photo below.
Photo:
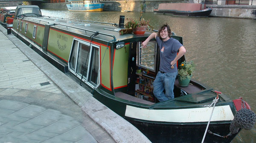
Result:
{"label": "blue jeans worn by the man on the boat", "polygon": [[[154,80],[154,96],[162,102],[174,98],[174,83],[177,72],[174,73],[157,73],[157,77]],[[163,90],[165,89],[165,94]]]}

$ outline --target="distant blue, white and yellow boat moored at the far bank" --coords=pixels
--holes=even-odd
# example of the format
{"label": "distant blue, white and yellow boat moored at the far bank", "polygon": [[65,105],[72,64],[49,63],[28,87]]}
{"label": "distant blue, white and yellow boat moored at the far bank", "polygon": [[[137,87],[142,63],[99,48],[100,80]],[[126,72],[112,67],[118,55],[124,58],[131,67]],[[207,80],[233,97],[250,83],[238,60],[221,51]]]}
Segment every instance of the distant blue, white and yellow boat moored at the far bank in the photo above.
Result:
{"label": "distant blue, white and yellow boat moored at the far bank", "polygon": [[103,11],[104,3],[100,3],[100,0],[69,0],[71,4],[67,4],[69,11],[87,11],[87,12],[99,12]]}

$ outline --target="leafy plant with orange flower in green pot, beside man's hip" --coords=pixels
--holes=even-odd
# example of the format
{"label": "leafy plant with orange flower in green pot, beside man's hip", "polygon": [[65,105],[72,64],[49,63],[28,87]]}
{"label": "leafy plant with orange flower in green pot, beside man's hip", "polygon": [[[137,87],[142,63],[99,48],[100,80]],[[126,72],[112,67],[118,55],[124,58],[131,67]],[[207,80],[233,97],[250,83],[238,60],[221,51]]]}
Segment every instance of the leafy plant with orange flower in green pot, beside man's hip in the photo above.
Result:
{"label": "leafy plant with orange flower in green pot, beside man's hip", "polygon": [[193,61],[183,61],[178,69],[178,81],[179,86],[186,87],[189,85],[192,73],[195,70],[195,64]]}

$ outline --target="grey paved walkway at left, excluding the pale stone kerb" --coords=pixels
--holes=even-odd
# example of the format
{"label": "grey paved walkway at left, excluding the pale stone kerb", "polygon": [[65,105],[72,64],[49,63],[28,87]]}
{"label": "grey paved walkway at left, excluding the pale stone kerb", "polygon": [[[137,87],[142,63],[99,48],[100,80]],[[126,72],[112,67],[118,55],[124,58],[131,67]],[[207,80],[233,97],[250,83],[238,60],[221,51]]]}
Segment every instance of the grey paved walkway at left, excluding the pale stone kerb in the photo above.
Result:
{"label": "grey paved walkway at left, excluding the pale stone kerb", "polygon": [[114,143],[2,32],[0,43],[1,143]]}

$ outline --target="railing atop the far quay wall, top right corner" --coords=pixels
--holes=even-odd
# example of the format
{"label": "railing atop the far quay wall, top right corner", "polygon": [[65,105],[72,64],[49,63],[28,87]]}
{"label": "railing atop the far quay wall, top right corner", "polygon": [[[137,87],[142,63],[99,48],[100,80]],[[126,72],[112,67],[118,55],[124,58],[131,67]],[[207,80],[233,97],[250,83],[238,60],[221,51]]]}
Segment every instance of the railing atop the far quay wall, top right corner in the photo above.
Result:
{"label": "railing atop the far quay wall, top right corner", "polygon": [[256,3],[256,0],[198,0],[198,3],[205,3],[205,4],[216,4],[224,3],[221,5],[253,5],[253,2]]}

